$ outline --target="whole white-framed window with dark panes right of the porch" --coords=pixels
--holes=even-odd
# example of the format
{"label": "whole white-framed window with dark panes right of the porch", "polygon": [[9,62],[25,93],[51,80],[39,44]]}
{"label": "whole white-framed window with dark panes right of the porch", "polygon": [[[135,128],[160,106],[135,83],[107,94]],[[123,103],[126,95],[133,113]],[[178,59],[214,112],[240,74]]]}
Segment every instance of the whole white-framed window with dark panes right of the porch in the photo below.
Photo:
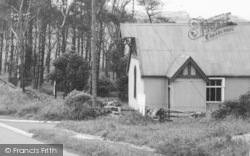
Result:
{"label": "whole white-framed window with dark panes right of the porch", "polygon": [[207,82],[206,100],[207,102],[223,102],[225,78],[209,78]]}

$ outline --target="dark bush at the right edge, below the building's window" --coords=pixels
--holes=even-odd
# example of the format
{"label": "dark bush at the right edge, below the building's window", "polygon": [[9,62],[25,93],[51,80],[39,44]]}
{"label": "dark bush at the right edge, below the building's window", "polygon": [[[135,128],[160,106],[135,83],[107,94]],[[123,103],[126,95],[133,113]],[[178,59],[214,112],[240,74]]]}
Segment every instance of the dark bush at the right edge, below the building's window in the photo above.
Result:
{"label": "dark bush at the right edge, below the building's window", "polygon": [[250,93],[241,95],[237,101],[226,101],[216,111],[212,113],[215,119],[223,119],[229,115],[236,117],[249,117],[250,115]]}

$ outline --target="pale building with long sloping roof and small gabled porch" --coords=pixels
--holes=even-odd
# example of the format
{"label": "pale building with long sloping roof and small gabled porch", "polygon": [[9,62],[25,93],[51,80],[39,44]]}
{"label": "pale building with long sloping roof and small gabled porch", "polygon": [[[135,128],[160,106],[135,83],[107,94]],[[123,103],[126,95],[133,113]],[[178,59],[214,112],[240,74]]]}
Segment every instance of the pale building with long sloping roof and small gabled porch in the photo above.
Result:
{"label": "pale building with long sloping roof and small gabled porch", "polygon": [[[203,26],[203,27],[202,27]],[[129,105],[206,111],[250,91],[250,23],[122,24]]]}

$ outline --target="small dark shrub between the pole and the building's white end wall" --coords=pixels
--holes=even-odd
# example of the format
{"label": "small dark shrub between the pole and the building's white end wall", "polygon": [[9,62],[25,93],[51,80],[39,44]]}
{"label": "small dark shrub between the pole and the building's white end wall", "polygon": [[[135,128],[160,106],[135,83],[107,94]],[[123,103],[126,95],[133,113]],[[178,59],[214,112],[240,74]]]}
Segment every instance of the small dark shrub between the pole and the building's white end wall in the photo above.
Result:
{"label": "small dark shrub between the pole and the building's white end wall", "polygon": [[98,96],[108,97],[110,92],[115,89],[115,86],[110,79],[102,77],[98,82]]}

